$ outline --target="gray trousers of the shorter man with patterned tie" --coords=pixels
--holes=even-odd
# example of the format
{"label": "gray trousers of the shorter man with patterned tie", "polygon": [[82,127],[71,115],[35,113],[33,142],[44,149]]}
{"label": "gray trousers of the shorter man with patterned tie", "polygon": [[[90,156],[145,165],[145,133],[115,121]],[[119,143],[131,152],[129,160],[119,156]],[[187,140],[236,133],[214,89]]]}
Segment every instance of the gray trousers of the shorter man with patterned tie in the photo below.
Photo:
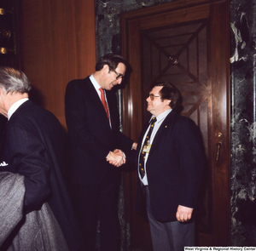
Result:
{"label": "gray trousers of the shorter man with patterned tie", "polygon": [[147,212],[154,251],[183,251],[184,247],[195,246],[195,222],[160,222],[155,220],[146,186]]}

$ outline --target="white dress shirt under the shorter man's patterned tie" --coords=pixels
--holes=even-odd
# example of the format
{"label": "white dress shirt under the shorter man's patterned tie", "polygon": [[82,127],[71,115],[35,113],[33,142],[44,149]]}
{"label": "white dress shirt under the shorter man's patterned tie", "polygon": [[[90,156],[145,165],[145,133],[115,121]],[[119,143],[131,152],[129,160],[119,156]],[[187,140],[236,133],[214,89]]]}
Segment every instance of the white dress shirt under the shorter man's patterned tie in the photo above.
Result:
{"label": "white dress shirt under the shorter man's patterned tie", "polygon": [[[160,128],[160,125],[164,122],[165,118],[167,117],[167,115],[172,111],[172,109],[168,109],[164,112],[162,112],[158,117],[156,117],[156,122],[154,123],[154,128],[153,128],[153,131],[152,131],[152,134],[150,136],[150,145],[153,144],[153,141],[154,141],[154,136],[155,134],[157,133],[158,129]],[[150,121],[152,120],[154,116],[151,117]],[[143,143],[144,143],[144,140],[148,134],[148,130],[150,128],[150,121],[148,123],[148,129],[146,131],[146,133],[144,134],[144,137],[143,137]],[[142,151],[142,148],[143,148],[143,144],[141,145],[141,149],[140,149],[140,152]],[[145,175],[142,179],[141,177],[141,174],[139,172],[139,168],[138,168],[138,175],[139,175],[139,178],[140,180],[143,182],[143,185],[148,185],[148,177],[147,177],[147,160],[148,160],[148,153],[146,152],[146,155],[145,155],[145,161],[144,161],[144,170],[145,170]]]}

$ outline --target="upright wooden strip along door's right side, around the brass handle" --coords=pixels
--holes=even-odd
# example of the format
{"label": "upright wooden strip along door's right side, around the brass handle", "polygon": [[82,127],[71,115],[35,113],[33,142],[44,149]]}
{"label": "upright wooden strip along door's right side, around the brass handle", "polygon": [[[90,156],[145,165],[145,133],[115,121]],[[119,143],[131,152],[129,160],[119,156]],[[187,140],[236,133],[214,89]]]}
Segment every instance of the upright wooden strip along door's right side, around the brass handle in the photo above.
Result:
{"label": "upright wooden strip along door's right side, around the brass handle", "polygon": [[[212,21],[212,245],[230,245],[229,1],[213,4]],[[217,143],[221,142],[218,162]]]}

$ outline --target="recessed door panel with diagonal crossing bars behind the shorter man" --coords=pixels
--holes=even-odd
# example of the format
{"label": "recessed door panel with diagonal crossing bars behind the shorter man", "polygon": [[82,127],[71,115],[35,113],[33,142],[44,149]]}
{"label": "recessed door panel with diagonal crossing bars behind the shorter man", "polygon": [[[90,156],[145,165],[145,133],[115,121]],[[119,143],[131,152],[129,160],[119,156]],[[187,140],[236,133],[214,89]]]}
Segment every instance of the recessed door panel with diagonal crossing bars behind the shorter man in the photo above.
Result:
{"label": "recessed door panel with diagonal crossing bars behind the shorter man", "polygon": [[[141,32],[142,88],[145,97],[152,83],[169,82],[177,87],[183,96],[183,116],[192,118],[201,129],[206,155],[208,156],[208,128],[212,122],[212,83],[208,79],[209,22],[197,20]],[[208,35],[208,36],[207,36]],[[147,112],[147,102],[143,102],[143,123],[151,117]],[[211,167],[207,166],[207,170]],[[208,175],[207,175],[208,176]],[[208,180],[201,194],[204,214],[199,220],[199,229],[211,231],[211,216],[208,202],[212,186]]]}

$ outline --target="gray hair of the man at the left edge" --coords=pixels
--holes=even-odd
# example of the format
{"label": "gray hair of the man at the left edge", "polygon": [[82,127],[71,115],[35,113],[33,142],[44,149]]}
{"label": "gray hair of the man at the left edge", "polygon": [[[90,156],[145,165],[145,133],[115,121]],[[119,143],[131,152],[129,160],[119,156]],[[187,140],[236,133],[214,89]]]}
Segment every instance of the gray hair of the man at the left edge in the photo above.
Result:
{"label": "gray hair of the man at the left edge", "polygon": [[31,90],[31,85],[24,72],[11,67],[0,67],[0,88],[7,94],[25,94]]}

